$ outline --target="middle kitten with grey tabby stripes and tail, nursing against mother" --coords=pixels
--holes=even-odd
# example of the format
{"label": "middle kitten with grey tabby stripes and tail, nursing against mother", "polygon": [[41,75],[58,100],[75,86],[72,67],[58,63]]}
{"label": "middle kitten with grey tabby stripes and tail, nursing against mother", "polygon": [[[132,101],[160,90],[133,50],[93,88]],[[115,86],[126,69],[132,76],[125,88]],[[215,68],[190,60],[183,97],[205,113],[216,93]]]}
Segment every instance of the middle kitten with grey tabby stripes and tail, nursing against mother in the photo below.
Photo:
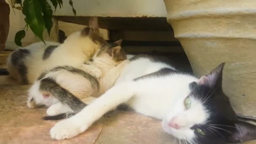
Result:
{"label": "middle kitten with grey tabby stripes and tail, nursing against mother", "polygon": [[56,103],[61,103],[66,108],[60,110],[79,112],[86,106],[83,99],[101,96],[115,84],[128,64],[121,41],[103,45],[81,67],[61,66],[44,72],[29,89],[27,106],[45,105],[50,109],[48,115],[56,115],[59,114]]}

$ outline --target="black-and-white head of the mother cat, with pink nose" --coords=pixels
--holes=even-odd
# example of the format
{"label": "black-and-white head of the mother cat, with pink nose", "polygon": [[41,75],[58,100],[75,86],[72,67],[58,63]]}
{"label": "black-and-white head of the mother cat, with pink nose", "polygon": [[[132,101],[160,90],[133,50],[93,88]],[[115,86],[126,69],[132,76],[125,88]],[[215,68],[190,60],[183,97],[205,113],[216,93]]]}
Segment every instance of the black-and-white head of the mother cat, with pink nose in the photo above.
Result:
{"label": "black-and-white head of the mother cat, with pink nose", "polygon": [[[163,119],[163,129],[189,144],[227,144],[256,139],[256,126],[237,119],[222,91],[224,63],[190,83]],[[186,143],[185,142],[185,143]]]}

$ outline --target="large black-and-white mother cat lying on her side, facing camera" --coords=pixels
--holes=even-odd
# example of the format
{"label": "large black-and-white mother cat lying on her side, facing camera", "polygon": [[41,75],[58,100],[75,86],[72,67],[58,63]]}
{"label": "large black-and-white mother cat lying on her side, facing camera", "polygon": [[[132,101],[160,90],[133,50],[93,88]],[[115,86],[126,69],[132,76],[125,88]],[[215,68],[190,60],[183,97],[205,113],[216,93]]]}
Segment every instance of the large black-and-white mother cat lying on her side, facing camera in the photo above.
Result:
{"label": "large black-and-white mother cat lying on her side, facing camera", "polygon": [[200,79],[150,56],[134,56],[115,85],[50,134],[69,139],[120,104],[162,120],[163,130],[189,144],[227,144],[256,139],[256,126],[237,119],[222,91],[224,63]]}

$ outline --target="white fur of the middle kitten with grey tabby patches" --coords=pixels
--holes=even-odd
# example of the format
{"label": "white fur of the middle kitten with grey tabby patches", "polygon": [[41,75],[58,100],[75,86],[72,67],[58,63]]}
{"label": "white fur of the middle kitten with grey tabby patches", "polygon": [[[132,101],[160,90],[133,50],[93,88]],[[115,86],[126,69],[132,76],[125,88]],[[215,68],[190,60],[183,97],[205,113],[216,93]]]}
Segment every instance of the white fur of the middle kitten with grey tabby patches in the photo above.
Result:
{"label": "white fur of the middle kitten with grey tabby patches", "polygon": [[[94,88],[93,85],[91,85],[91,81],[82,75],[71,73],[65,69],[48,72],[42,79],[46,77],[54,78],[56,83],[58,83],[62,88],[67,89],[79,99],[85,99],[90,96],[98,97],[115,84],[115,81],[120,76],[123,68],[128,64],[128,62],[128,60],[122,61],[121,63],[120,61],[114,61],[109,54],[103,53],[101,56],[97,56],[97,54],[95,54],[93,61],[88,62],[89,64],[82,64],[80,67],[76,67],[96,77],[99,82],[99,90]],[[34,105],[45,105],[49,107],[58,102],[51,93],[40,91],[39,85],[40,80],[37,80],[29,89],[29,97],[27,101],[28,107],[34,108]],[[47,98],[43,97],[44,93],[47,93],[50,96]],[[33,105],[30,101],[32,98],[35,101],[35,104]],[[54,110],[49,107],[47,113],[52,115],[53,113],[59,112],[58,109]]]}

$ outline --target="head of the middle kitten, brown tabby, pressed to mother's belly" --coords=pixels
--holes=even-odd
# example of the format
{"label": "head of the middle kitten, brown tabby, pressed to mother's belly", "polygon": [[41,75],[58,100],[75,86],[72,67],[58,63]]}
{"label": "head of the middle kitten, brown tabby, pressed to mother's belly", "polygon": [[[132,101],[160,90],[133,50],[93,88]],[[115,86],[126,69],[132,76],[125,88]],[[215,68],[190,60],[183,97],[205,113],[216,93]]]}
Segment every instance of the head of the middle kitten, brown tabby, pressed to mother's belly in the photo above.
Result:
{"label": "head of the middle kitten, brown tabby, pressed to mother's belly", "polygon": [[[93,56],[91,61],[99,64],[108,64],[109,66],[117,66],[126,60],[126,53],[121,47],[122,39],[114,43],[103,45],[100,50]],[[104,67],[104,66],[103,66]]]}

